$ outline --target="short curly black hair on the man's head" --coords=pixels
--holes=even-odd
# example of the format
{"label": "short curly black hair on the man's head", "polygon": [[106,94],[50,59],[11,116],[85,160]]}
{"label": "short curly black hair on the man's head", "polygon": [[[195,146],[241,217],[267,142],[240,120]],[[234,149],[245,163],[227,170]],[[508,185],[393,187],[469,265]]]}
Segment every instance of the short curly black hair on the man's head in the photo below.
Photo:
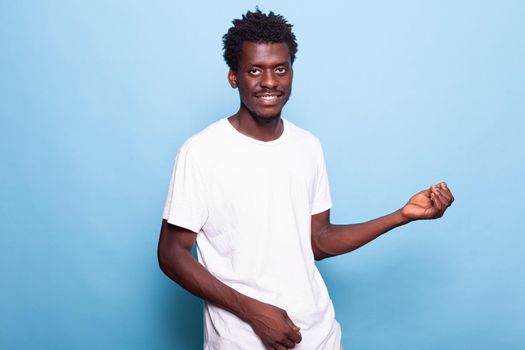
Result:
{"label": "short curly black hair on the man's head", "polygon": [[290,60],[293,64],[297,53],[297,41],[292,32],[290,23],[281,15],[276,15],[272,11],[265,14],[255,9],[255,12],[248,11],[242,15],[241,19],[232,21],[233,27],[222,37],[224,60],[228,67],[234,72],[241,57],[242,43],[244,41],[262,43],[286,43],[290,51]]}

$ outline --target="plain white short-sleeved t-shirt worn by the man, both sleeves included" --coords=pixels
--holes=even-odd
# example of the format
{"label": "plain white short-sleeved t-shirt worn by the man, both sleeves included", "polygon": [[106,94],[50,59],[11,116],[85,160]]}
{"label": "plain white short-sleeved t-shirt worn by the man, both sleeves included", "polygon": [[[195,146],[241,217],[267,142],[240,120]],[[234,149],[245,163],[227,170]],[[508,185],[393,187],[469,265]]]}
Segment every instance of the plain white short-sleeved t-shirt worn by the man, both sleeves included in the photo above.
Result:
{"label": "plain white short-sleeved t-shirt worn by the man, both sleeves included", "polygon": [[[283,119],[274,141],[227,118],[179,149],[163,218],[197,234],[199,262],[240,293],[278,306],[301,328],[297,350],[339,350],[340,327],[315,266],[311,216],[331,205],[319,140]],[[249,324],[204,307],[204,349],[264,349]]]}

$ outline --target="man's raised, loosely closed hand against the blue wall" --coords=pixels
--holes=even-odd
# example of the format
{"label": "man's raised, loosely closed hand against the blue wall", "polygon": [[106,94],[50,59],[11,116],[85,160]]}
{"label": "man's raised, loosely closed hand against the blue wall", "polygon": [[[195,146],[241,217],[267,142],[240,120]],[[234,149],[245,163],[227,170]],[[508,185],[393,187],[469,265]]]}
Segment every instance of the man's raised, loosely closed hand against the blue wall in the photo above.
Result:
{"label": "man's raised, loosely closed hand against the blue wall", "polygon": [[441,182],[412,196],[401,209],[401,214],[410,220],[437,219],[443,216],[453,201],[454,196],[447,184]]}

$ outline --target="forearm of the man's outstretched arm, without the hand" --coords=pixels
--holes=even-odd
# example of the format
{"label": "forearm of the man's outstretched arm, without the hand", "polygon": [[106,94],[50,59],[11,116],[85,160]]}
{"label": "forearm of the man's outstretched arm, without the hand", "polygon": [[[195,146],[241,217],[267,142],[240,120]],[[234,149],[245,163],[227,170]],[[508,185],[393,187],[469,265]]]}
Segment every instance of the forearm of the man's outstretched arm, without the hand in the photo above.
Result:
{"label": "forearm of the man's outstretched arm, without the hand", "polygon": [[391,229],[410,222],[401,215],[401,209],[380,218],[358,224],[327,224],[317,228],[314,253],[317,260],[351,252]]}

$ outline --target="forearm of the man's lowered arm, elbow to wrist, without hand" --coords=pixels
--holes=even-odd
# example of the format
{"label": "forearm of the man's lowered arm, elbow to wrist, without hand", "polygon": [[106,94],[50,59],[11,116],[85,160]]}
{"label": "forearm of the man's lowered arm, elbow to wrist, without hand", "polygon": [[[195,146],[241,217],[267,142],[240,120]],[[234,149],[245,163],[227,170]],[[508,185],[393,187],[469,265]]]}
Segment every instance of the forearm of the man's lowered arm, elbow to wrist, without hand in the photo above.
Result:
{"label": "forearm of the man's lowered arm, elbow to wrist, without hand", "polygon": [[169,278],[190,293],[246,320],[247,306],[255,299],[219,281],[186,249],[178,248],[175,251],[159,252],[159,264]]}

